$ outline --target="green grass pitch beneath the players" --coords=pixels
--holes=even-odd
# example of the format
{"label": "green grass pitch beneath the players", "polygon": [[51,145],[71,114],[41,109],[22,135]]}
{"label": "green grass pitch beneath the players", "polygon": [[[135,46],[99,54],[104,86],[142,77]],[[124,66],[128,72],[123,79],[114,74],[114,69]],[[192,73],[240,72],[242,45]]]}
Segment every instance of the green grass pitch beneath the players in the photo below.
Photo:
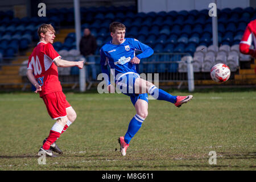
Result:
{"label": "green grass pitch beneath the players", "polygon": [[[0,94],[0,170],[255,170],[255,89],[199,90],[180,108],[150,100],[126,156],[117,139],[135,114],[130,98],[65,94],[77,119],[57,140],[64,154],[46,158],[45,165],[36,154],[54,121],[43,100],[33,93]],[[209,164],[210,151],[217,164]]]}

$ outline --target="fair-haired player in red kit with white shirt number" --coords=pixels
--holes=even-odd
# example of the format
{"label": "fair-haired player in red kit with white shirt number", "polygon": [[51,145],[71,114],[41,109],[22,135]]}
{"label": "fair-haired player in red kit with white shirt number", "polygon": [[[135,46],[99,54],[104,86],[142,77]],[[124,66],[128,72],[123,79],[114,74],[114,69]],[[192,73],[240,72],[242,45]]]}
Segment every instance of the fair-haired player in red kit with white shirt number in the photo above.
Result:
{"label": "fair-haired player in red kit with white shirt number", "polygon": [[39,154],[43,152],[48,156],[55,156],[52,151],[62,154],[55,141],[76,119],[75,110],[62,92],[57,67],[79,67],[81,69],[84,62],[61,59],[52,46],[55,30],[51,24],[42,24],[38,28],[38,36],[40,42],[28,58],[27,77],[35,86],[35,93],[39,93],[46,104],[50,117],[56,121],[49,136],[43,141]]}

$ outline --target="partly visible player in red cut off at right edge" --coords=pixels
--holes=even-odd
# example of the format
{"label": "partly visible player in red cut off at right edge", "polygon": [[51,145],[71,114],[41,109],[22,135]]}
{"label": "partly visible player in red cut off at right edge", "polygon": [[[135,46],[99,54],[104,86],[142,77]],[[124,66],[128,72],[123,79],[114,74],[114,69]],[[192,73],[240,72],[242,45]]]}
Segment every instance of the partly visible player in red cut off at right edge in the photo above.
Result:
{"label": "partly visible player in red cut off at right edge", "polygon": [[[250,49],[251,44],[254,42],[254,49]],[[247,24],[243,38],[239,44],[240,52],[245,55],[251,55],[256,58],[256,19]],[[256,67],[255,67],[256,74]]]}

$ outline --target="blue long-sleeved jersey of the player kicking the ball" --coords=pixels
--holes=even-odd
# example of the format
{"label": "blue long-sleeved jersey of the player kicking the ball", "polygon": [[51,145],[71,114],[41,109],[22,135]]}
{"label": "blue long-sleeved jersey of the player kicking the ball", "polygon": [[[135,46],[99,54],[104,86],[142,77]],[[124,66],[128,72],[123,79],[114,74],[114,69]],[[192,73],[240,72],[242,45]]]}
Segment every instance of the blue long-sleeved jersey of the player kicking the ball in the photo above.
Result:
{"label": "blue long-sleeved jersey of the player kicking the ball", "polygon": [[[154,51],[152,48],[139,42],[137,39],[125,38],[122,44],[112,44],[110,41],[101,47],[101,69],[103,73],[108,73],[108,65],[110,69],[114,69],[115,75],[119,73],[134,72],[137,73],[135,64],[131,64],[131,59],[135,57],[135,51],[142,51],[138,59],[151,56]],[[110,82],[109,82],[110,84]]]}

